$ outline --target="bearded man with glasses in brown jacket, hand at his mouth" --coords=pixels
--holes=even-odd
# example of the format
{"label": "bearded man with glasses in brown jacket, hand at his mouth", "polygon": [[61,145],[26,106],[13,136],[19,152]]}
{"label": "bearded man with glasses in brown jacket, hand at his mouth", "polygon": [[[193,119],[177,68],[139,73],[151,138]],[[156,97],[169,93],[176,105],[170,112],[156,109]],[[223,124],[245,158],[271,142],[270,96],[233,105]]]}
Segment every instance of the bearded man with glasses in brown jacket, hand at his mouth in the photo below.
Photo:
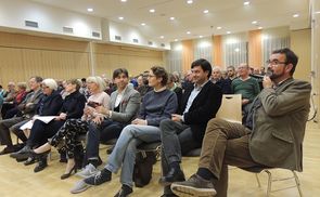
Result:
{"label": "bearded man with glasses in brown jacket, hand at his mouth", "polygon": [[203,141],[197,172],[171,189],[183,196],[227,196],[228,165],[240,168],[303,170],[302,144],[311,86],[293,79],[298,57],[290,49],[272,52],[270,78],[253,102],[246,124],[213,119]]}

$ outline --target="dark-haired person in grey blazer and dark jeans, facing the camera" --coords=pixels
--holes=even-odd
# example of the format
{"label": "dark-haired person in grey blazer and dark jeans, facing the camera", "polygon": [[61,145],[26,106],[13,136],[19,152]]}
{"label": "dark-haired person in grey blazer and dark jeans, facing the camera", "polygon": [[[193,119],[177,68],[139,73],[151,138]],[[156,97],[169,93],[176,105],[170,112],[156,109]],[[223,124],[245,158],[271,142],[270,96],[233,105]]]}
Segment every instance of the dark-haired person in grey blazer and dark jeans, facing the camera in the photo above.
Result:
{"label": "dark-haired person in grey blazer and dark jeans, facing the camera", "polygon": [[136,118],[140,107],[140,93],[128,86],[128,70],[125,68],[114,70],[113,80],[117,86],[117,90],[111,94],[110,109],[103,106],[95,108],[106,115],[107,118],[99,126],[94,122],[89,126],[86,147],[88,165],[78,173],[84,178],[98,172],[97,167],[102,162],[99,158],[100,142],[117,139],[121,130]]}

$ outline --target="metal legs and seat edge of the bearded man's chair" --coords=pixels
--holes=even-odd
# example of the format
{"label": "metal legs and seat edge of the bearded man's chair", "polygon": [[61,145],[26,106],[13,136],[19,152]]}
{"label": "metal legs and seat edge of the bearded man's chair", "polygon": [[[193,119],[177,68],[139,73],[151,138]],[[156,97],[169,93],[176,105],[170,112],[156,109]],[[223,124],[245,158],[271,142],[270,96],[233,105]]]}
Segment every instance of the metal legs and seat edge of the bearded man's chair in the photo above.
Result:
{"label": "metal legs and seat edge of the bearded man's chair", "polygon": [[[272,192],[279,192],[279,191],[283,191],[283,189],[286,189],[286,188],[293,188],[293,187],[297,187],[299,196],[303,197],[303,191],[300,188],[300,182],[299,182],[299,179],[298,179],[298,176],[297,176],[297,174],[296,174],[296,172],[294,170],[290,170],[293,173],[292,176],[278,178],[278,179],[272,178],[272,174],[271,174],[271,171],[270,171],[270,170],[272,170],[272,168],[253,167],[253,168],[242,168],[242,170],[255,173],[255,176],[256,176],[256,180],[257,180],[257,183],[258,183],[258,187],[261,187],[258,174],[260,172],[266,172],[268,174],[267,197],[269,197]],[[291,186],[287,186],[287,187],[283,187],[283,188],[280,188],[280,189],[272,191],[271,186],[272,186],[273,182],[280,182],[280,181],[286,181],[286,180],[293,180],[293,179],[295,181],[295,185],[291,185]]]}

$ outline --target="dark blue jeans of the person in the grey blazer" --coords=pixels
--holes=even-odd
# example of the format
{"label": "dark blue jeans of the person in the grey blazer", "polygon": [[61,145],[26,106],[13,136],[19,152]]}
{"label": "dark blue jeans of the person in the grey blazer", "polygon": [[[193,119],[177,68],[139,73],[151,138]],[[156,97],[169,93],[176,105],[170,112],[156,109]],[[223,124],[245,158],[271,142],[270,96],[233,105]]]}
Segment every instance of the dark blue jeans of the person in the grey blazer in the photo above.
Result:
{"label": "dark blue jeans of the person in the grey blazer", "polygon": [[117,139],[126,124],[113,121],[111,119],[103,120],[101,124],[89,124],[88,141],[86,154],[88,159],[98,159],[100,142],[107,142]]}

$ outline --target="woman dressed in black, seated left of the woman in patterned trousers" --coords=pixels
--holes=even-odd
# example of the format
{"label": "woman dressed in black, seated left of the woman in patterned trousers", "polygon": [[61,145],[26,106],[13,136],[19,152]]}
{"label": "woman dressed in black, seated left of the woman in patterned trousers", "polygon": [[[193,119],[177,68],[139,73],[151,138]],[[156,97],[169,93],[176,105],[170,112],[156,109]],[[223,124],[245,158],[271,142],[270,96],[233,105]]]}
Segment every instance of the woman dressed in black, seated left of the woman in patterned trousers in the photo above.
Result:
{"label": "woman dressed in black, seated left of the woman in patterned trousers", "polygon": [[[38,146],[43,145],[47,143],[48,139],[52,137],[59,131],[67,119],[81,118],[87,100],[85,95],[79,92],[79,89],[80,81],[77,79],[66,81],[65,91],[68,95],[63,101],[59,116],[49,123],[36,120],[31,128],[29,143],[37,144]],[[25,165],[30,165],[34,160],[34,157],[31,157],[25,162]],[[47,157],[43,156],[39,159],[35,172],[43,170],[47,166]]]}

